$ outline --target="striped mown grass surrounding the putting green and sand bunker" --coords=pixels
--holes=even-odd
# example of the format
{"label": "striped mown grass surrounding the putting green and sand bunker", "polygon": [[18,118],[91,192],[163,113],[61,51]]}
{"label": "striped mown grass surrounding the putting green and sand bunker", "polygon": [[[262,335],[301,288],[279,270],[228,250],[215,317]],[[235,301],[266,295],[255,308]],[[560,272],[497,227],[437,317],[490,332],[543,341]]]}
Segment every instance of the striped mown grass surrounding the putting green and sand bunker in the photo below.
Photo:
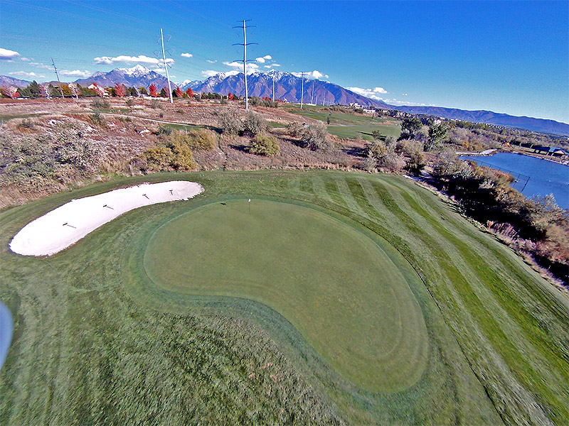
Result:
{"label": "striped mown grass surrounding the putting green and sand bunker", "polygon": [[[21,226],[72,198],[180,178],[206,192],[124,214],[50,258],[7,249]],[[146,285],[136,267],[144,253],[130,247],[223,197],[326,209],[407,258],[414,271],[402,273],[428,335],[420,379],[395,393],[366,391],[265,304]],[[5,209],[0,244],[0,298],[15,320],[0,424],[569,422],[567,297],[404,178],[263,171],[116,180]]]}

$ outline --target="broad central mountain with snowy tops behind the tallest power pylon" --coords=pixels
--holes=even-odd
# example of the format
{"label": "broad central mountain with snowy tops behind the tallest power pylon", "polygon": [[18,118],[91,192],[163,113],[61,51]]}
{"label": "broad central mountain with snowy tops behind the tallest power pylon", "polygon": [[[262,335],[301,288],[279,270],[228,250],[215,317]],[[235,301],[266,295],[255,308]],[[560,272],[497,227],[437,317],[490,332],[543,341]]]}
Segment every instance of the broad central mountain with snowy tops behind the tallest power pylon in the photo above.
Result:
{"label": "broad central mountain with snowy tops behind the tallest power pylon", "polygon": [[[254,72],[247,76],[249,96],[272,97],[272,80],[275,77],[275,99],[287,102],[300,102],[302,97],[302,80],[289,72],[268,71]],[[206,80],[189,82],[182,89],[191,87],[194,92],[217,92],[220,94],[235,93],[240,97],[245,96],[245,79],[243,72],[220,72]],[[361,96],[344,89],[338,84],[324,82],[322,80],[304,79],[305,104],[351,104],[356,102],[361,105],[390,108],[383,102]]]}

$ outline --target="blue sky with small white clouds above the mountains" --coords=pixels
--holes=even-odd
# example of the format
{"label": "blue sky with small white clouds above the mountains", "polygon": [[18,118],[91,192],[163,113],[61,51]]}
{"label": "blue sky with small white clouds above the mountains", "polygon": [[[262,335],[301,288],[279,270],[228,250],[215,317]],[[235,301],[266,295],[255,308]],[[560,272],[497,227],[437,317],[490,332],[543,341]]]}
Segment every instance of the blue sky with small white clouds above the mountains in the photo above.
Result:
{"label": "blue sky with small white clouds above the mountains", "polygon": [[67,81],[155,69],[164,28],[172,79],[203,80],[235,70],[243,18],[261,71],[313,72],[392,104],[569,122],[568,1],[1,0],[0,74],[55,80],[51,57]]}

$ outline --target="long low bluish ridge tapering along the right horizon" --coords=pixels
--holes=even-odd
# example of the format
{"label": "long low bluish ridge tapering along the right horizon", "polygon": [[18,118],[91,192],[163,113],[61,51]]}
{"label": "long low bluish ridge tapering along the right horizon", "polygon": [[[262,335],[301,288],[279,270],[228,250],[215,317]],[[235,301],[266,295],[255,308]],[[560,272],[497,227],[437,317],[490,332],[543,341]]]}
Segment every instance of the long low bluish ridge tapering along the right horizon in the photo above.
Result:
{"label": "long low bluish ridge tapering along the right horizon", "polygon": [[501,114],[485,110],[468,111],[465,109],[444,107],[414,107],[405,105],[402,107],[392,107],[392,109],[405,111],[410,114],[434,115],[444,119],[473,121],[474,123],[496,124],[497,126],[518,127],[520,129],[527,129],[531,131],[569,135],[569,124],[555,120],[534,119],[526,116],[511,116],[509,114]]}

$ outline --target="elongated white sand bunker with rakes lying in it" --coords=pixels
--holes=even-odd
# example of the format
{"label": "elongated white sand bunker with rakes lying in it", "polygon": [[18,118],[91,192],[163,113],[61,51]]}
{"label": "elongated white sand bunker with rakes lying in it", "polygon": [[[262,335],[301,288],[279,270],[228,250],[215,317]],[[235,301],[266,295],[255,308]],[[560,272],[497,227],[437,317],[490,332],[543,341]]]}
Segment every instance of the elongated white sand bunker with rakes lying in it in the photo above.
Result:
{"label": "elongated white sand bunker with rakes lying in it", "polygon": [[71,200],[24,226],[9,244],[27,256],[49,256],[82,239],[99,226],[138,207],[188,200],[203,192],[196,182],[174,180],[142,184]]}

